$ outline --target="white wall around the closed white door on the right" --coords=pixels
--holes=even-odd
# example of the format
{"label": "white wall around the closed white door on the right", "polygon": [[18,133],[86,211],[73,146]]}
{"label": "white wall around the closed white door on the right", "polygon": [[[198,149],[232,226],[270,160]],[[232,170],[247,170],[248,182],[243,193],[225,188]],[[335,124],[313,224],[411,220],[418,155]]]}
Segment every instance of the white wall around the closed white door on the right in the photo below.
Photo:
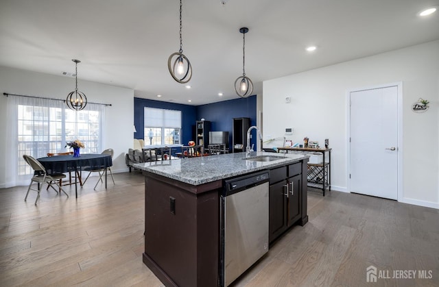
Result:
{"label": "white wall around the closed white door on the right", "polygon": [[[264,82],[264,138],[285,127],[294,142],[329,138],[332,187],[348,191],[346,90],[395,82],[403,82],[403,202],[439,208],[439,41]],[[427,112],[412,112],[418,98],[430,101]]]}

